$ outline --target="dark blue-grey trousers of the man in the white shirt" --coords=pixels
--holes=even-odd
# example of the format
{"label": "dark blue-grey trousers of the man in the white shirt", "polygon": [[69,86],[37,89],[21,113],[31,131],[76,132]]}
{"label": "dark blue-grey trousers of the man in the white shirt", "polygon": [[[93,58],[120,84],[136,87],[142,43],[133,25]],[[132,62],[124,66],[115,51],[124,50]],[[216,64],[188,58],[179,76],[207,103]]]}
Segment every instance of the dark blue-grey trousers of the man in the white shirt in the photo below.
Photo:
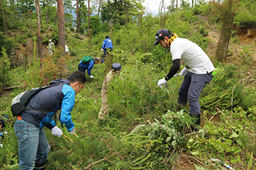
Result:
{"label": "dark blue-grey trousers of the man in the white shirt", "polygon": [[199,95],[203,87],[210,83],[211,79],[213,79],[213,75],[210,73],[194,74],[188,72],[185,75],[181,88],[178,91],[178,103],[186,105],[188,101],[191,115],[200,114]]}

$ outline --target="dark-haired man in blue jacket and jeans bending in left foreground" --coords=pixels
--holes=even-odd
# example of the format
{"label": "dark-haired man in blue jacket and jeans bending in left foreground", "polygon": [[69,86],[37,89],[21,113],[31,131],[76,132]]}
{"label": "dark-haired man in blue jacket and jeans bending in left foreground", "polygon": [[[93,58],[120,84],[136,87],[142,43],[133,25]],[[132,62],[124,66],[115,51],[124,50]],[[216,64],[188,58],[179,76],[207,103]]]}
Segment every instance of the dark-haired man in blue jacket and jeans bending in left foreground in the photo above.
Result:
{"label": "dark-haired man in blue jacket and jeans bending in left foreground", "polygon": [[44,127],[58,137],[63,135],[53,120],[55,111],[60,111],[60,123],[65,124],[70,134],[75,134],[75,124],[71,119],[71,111],[75,103],[75,95],[85,85],[85,74],[75,71],[68,79],[56,79],[50,84],[58,84],[39,91],[31,98],[27,107],[51,111],[49,113],[25,110],[16,118],[14,131],[18,139],[19,169],[46,169],[50,145],[46,139]]}

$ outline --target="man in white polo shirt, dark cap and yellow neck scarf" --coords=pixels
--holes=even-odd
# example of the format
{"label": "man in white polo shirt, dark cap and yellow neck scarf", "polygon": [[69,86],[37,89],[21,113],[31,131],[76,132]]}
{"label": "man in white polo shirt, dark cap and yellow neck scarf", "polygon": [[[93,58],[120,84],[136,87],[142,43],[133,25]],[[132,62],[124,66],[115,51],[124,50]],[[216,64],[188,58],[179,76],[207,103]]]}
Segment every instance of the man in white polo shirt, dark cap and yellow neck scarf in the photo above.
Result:
{"label": "man in white polo shirt, dark cap and yellow neck scarf", "polygon": [[215,70],[213,63],[206,52],[196,43],[185,38],[178,38],[178,35],[172,34],[168,29],[157,31],[154,45],[159,43],[162,47],[170,49],[173,66],[166,77],[158,81],[157,85],[162,87],[162,84],[166,84],[171,77],[174,77],[180,68],[180,60],[186,62],[186,67],[181,70],[180,74],[185,77],[178,91],[178,104],[186,105],[188,101],[189,115],[193,118],[193,123],[200,125],[199,95],[203,87],[213,79],[211,74]]}

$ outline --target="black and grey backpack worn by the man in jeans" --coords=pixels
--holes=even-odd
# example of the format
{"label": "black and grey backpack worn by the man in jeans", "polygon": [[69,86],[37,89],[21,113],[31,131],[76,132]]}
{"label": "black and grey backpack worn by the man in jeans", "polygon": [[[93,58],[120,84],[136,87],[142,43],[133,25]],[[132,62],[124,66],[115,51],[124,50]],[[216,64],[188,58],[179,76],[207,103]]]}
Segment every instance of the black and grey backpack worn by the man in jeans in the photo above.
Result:
{"label": "black and grey backpack worn by the man in jeans", "polygon": [[31,89],[28,91],[24,91],[21,94],[18,94],[15,98],[12,99],[11,101],[11,112],[14,116],[16,115],[21,115],[24,110],[33,110],[33,111],[41,111],[41,112],[52,112],[52,111],[46,111],[38,108],[27,108],[26,106],[28,105],[28,102],[31,101],[31,98],[35,96],[39,91],[43,89],[47,89],[52,86],[57,86],[59,84],[52,84],[49,86],[41,86],[36,89]]}

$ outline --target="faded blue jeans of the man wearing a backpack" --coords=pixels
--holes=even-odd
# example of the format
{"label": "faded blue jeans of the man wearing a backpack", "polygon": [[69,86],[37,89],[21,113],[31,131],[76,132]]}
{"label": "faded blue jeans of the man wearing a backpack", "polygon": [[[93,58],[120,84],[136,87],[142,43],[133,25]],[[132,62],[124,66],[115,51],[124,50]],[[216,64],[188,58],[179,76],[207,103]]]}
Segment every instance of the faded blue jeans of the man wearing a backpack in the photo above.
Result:
{"label": "faded blue jeans of the man wearing a backpack", "polygon": [[43,128],[17,119],[14,131],[18,139],[19,169],[33,170],[35,164],[46,162],[50,145]]}

